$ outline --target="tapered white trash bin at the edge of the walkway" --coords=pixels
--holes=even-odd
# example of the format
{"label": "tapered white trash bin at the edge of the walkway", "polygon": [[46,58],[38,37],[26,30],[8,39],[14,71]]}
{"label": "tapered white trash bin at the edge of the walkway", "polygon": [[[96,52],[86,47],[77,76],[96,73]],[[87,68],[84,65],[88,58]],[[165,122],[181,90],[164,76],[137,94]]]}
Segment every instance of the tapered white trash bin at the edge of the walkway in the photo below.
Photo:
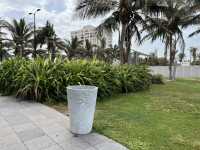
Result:
{"label": "tapered white trash bin at the edge of the walkway", "polygon": [[92,130],[98,88],[95,86],[67,87],[70,130],[74,134],[88,134]]}

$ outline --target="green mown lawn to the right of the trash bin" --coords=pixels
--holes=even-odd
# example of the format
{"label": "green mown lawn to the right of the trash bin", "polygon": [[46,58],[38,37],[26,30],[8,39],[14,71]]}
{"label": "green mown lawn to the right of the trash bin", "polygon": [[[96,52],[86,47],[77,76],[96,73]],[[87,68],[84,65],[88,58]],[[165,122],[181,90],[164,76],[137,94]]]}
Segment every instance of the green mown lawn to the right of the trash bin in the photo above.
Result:
{"label": "green mown lawn to the right of the trash bin", "polygon": [[105,99],[94,127],[131,150],[200,150],[200,81]]}

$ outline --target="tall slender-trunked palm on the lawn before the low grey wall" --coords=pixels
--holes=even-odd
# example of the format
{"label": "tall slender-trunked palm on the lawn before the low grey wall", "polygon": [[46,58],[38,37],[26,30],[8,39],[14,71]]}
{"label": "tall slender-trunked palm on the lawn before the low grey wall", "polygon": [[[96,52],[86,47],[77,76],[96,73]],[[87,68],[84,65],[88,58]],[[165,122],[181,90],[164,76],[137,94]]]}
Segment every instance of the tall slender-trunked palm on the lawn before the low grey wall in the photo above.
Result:
{"label": "tall slender-trunked palm on the lawn before the low grey wall", "polygon": [[[192,4],[184,0],[163,0],[162,15],[159,17],[147,16],[148,26],[145,28],[148,34],[143,38],[161,39],[165,43],[165,54],[169,51],[169,79],[175,79],[175,55],[177,53],[177,44],[180,45],[181,53],[184,53],[185,41],[183,38],[182,27],[190,22],[191,16],[194,15]],[[174,66],[174,68],[173,68]]]}

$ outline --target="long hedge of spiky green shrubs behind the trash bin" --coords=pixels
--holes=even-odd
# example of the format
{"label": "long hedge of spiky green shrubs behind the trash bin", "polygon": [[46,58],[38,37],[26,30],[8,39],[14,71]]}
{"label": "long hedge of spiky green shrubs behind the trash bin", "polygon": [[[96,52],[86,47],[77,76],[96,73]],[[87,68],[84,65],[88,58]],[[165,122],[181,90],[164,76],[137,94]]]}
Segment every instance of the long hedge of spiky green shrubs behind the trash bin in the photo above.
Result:
{"label": "long hedge of spiky green shrubs behind the trash bin", "polygon": [[[66,100],[69,85],[99,87],[99,98],[116,93],[145,90],[151,85],[151,75],[145,66],[112,66],[98,60],[62,60],[14,58],[0,66],[0,92],[19,97]],[[6,88],[5,88],[6,87]]]}

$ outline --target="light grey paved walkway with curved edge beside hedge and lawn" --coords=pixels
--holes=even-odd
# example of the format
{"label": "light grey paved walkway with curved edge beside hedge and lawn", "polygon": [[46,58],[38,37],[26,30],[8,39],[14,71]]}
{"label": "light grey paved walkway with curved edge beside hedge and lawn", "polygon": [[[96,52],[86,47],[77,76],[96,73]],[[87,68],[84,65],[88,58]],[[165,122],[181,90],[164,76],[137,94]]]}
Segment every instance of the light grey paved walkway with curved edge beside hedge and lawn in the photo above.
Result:
{"label": "light grey paved walkway with curved edge beside hedge and lawn", "polygon": [[0,97],[0,150],[127,150],[97,133],[74,137],[69,119],[39,103]]}

